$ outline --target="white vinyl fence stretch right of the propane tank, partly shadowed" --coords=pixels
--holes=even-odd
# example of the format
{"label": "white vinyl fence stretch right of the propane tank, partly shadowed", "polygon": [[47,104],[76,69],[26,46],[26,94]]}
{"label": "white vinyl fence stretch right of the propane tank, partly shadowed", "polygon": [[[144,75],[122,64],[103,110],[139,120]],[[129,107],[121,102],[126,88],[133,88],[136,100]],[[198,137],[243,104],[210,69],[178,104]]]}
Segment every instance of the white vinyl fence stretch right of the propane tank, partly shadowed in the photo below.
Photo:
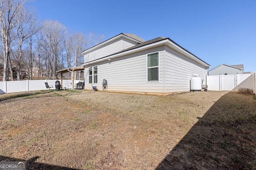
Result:
{"label": "white vinyl fence stretch right of the propane tank, partly shadowed", "polygon": [[206,84],[208,90],[236,92],[250,90],[255,93],[256,73],[206,76]]}

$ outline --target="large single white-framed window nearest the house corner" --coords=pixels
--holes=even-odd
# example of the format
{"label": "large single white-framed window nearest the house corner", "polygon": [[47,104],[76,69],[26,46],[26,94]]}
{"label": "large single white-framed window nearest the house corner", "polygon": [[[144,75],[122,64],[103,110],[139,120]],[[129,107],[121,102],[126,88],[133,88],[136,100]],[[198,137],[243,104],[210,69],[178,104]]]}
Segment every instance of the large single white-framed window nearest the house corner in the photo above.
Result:
{"label": "large single white-framed window nearest the house corner", "polygon": [[147,54],[147,82],[159,81],[159,52]]}

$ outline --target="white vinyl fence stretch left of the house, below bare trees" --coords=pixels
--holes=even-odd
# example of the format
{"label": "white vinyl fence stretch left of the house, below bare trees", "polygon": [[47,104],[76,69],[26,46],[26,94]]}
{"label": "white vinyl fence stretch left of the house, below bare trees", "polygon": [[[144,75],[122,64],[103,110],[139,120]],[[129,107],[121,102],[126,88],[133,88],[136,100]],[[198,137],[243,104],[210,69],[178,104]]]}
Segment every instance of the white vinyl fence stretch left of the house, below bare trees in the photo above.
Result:
{"label": "white vinyl fence stretch left of the house, below bare trees", "polygon": [[[48,82],[49,85],[55,88],[55,82],[57,80],[22,80],[22,81],[4,81],[0,82],[0,94],[13,93],[13,92],[25,92],[32,90],[46,90],[44,82]],[[59,80],[60,81],[60,80]],[[79,80],[75,80],[75,83]],[[62,88],[66,87],[71,89],[72,80],[62,80]]]}

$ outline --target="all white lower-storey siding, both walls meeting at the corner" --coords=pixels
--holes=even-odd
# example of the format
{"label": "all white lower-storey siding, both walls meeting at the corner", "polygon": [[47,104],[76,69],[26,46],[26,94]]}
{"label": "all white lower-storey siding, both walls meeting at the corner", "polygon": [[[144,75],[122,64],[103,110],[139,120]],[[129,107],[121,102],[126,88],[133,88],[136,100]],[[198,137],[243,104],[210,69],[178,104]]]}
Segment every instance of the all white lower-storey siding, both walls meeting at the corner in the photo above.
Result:
{"label": "all white lower-storey siding, both walls meeting at the corner", "polygon": [[[166,51],[164,50],[166,49]],[[158,52],[158,81],[147,81],[148,54]],[[164,64],[165,63],[165,64]],[[95,65],[88,65],[93,67]],[[190,79],[199,74],[206,83],[206,68],[184,55],[165,46],[153,47],[144,51],[101,61],[98,66],[98,84],[88,84],[85,72],[85,89],[97,86],[102,90],[102,81],[108,81],[109,91],[171,93],[190,91]],[[88,69],[86,69],[88,71]]]}

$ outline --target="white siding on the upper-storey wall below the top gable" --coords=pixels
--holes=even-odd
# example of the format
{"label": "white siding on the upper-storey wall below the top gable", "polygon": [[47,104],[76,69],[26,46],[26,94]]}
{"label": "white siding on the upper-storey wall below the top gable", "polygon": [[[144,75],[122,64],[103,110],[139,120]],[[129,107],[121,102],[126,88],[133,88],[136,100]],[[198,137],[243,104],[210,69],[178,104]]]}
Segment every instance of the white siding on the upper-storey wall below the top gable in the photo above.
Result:
{"label": "white siding on the upper-storey wall below the top gable", "polygon": [[116,39],[114,41],[111,41],[110,43],[107,43],[103,47],[99,47],[98,49],[95,49],[92,52],[85,53],[84,54],[84,63],[94,61],[96,59],[100,59],[102,57],[106,57],[108,55],[120,52],[124,49],[130,48],[138,43],[135,43],[133,41],[130,41],[125,38]]}

